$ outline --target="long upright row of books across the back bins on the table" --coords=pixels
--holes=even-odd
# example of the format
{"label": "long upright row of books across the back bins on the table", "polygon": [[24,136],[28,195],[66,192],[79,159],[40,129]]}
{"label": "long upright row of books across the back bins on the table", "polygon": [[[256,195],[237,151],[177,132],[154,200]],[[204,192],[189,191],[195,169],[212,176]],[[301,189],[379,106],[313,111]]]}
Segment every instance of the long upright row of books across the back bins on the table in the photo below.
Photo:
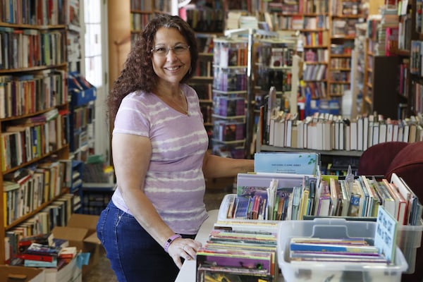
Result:
{"label": "long upright row of books across the back bins on the table", "polygon": [[[221,206],[225,209],[226,219],[376,218],[380,207],[384,207],[401,225],[418,225],[422,217],[423,207],[419,199],[395,173],[391,181],[380,176],[321,176],[320,179],[307,175],[258,173],[250,176],[250,185],[240,183],[239,177],[237,194],[227,197],[225,205]],[[269,185],[265,186],[266,183]]]}

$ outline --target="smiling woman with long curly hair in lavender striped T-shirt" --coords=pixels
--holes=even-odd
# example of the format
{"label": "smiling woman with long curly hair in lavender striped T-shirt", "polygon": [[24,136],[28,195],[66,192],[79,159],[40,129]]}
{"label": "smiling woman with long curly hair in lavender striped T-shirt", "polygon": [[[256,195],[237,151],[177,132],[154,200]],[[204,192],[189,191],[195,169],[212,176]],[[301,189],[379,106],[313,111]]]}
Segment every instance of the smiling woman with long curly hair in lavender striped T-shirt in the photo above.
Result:
{"label": "smiling woman with long curly hair in lavender striped T-shirt", "polygon": [[247,159],[207,153],[197,93],[185,82],[197,43],[178,16],[143,30],[108,97],[117,189],[97,233],[118,281],[174,281],[207,219],[205,178],[254,170]]}

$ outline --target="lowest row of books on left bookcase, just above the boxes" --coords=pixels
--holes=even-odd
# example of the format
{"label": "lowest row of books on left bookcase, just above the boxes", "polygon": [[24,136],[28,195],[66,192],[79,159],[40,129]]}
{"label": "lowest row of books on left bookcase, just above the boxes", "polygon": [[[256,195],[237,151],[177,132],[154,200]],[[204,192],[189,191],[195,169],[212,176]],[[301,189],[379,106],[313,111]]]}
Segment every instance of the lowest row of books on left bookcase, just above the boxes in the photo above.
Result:
{"label": "lowest row of books on left bookcase, just above the boxes", "polygon": [[77,206],[80,206],[80,198],[73,194],[65,194],[56,198],[49,206],[37,212],[35,216],[8,229],[5,237],[6,262],[17,257],[22,250],[20,243],[24,238],[30,238],[39,234],[49,234],[55,226],[66,226],[71,214]]}

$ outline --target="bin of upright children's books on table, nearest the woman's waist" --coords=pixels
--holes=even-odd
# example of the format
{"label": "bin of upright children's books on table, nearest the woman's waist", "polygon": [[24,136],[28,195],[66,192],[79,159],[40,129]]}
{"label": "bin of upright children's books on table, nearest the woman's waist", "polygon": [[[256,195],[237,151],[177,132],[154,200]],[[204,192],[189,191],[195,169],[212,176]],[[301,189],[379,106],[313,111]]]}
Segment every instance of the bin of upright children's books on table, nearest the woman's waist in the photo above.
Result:
{"label": "bin of upright children's books on table, nearest the woman's waist", "polygon": [[218,223],[263,230],[280,221],[302,219],[314,202],[317,176],[289,173],[238,173],[237,193],[223,197]]}

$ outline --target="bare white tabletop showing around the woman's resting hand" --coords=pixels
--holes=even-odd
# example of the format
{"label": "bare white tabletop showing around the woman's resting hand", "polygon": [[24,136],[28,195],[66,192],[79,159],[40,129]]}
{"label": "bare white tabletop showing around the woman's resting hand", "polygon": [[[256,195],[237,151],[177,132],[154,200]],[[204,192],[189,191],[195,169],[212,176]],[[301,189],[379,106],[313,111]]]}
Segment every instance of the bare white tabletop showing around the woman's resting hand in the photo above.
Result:
{"label": "bare white tabletop showing around the woman's resting hand", "polygon": [[[195,240],[201,242],[203,245],[206,243],[207,238],[209,238],[210,231],[212,231],[214,223],[217,221],[217,215],[219,214],[219,209],[213,209],[209,211],[209,218],[204,221],[200,230],[195,237]],[[185,260],[182,265],[182,268],[179,271],[178,277],[176,277],[175,282],[195,282],[195,268],[197,262],[193,260]],[[283,282],[283,277],[278,278],[278,282]]]}

